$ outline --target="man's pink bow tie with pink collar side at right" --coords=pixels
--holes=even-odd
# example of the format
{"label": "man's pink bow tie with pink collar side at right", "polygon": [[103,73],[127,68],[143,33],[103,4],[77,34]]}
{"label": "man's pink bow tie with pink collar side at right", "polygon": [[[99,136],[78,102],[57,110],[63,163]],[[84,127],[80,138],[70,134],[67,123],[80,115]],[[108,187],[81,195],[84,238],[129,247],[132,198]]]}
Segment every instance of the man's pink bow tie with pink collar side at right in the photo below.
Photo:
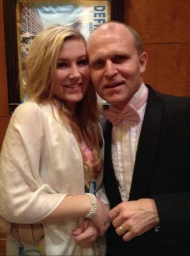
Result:
{"label": "man's pink bow tie with pink collar side at right", "polygon": [[139,122],[141,118],[136,109],[140,108],[146,102],[147,97],[148,92],[146,92],[134,106],[129,103],[121,111],[119,111],[119,109],[116,111],[110,109],[104,110],[104,116],[115,126],[120,124],[122,119]]}

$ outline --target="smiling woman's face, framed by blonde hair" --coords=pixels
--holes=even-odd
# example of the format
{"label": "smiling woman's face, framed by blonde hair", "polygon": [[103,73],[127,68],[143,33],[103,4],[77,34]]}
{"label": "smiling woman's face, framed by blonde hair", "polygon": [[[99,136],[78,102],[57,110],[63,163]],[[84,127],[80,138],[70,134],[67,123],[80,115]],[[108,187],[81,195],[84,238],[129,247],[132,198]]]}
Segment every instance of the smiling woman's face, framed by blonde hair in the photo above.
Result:
{"label": "smiling woman's face, framed by blonde hair", "polygon": [[89,85],[90,72],[85,45],[81,39],[68,39],[57,59],[54,94],[75,111]]}

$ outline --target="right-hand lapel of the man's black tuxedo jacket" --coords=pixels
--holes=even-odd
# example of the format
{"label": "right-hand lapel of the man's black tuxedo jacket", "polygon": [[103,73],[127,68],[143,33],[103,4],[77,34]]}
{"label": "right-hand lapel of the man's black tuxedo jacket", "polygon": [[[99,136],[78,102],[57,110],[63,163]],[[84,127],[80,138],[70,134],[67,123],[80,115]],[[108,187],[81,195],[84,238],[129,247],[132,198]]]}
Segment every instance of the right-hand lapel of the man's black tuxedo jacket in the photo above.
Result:
{"label": "right-hand lapel of the man's black tuxedo jacket", "polygon": [[129,200],[146,197],[159,143],[163,103],[155,91],[149,86],[148,89],[149,96],[137,148]]}

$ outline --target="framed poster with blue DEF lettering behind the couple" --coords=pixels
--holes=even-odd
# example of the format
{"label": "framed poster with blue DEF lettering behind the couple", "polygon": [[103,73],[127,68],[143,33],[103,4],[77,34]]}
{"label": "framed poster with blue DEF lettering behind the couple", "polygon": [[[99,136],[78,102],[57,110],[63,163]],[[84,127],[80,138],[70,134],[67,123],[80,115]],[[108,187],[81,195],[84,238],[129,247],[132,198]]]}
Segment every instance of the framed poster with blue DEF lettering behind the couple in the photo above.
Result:
{"label": "framed poster with blue DEF lettering behind the couple", "polygon": [[16,19],[20,99],[23,102],[27,99],[24,59],[36,35],[59,23],[75,27],[87,40],[96,27],[110,20],[110,0],[17,0]]}

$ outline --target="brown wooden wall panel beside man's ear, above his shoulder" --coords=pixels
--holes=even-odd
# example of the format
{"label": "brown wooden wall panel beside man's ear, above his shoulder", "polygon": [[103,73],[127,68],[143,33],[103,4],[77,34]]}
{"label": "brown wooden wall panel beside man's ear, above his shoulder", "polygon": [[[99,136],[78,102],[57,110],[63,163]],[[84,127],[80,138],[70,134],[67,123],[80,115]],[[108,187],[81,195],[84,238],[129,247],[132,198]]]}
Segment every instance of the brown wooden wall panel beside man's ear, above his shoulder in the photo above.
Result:
{"label": "brown wooden wall panel beside man's ear, above his shoulder", "polygon": [[167,94],[190,96],[190,44],[146,44],[144,50],[144,81]]}

